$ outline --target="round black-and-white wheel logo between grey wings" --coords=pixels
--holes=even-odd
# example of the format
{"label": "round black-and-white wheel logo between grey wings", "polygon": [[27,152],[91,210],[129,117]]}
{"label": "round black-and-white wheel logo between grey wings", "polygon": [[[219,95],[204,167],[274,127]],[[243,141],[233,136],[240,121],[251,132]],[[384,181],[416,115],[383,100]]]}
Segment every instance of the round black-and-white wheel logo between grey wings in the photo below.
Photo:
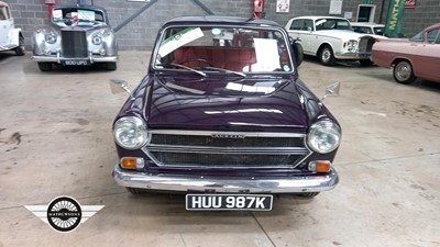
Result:
{"label": "round black-and-white wheel logo between grey wings", "polygon": [[70,232],[81,222],[81,206],[69,197],[54,199],[47,206],[48,224],[58,232]]}

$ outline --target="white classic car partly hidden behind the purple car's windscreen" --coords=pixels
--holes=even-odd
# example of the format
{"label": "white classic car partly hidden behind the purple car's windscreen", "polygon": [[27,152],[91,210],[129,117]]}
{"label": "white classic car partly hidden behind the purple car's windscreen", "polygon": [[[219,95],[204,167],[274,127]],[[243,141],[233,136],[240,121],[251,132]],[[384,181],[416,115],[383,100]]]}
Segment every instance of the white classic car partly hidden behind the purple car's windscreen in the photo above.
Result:
{"label": "white classic car partly hidden behind the purple car's windscreen", "polygon": [[287,22],[286,30],[294,40],[299,40],[305,55],[317,56],[323,65],[334,65],[337,60],[372,64],[370,57],[375,38],[355,33],[344,18],[294,18]]}

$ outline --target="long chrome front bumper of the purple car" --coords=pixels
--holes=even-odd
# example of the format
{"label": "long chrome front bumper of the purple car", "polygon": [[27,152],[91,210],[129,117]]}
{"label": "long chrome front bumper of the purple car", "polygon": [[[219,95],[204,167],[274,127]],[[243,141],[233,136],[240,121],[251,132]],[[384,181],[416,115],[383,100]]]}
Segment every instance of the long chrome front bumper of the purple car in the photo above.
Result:
{"label": "long chrome front bumper of the purple car", "polygon": [[113,178],[122,187],[160,191],[200,191],[223,193],[295,193],[319,192],[333,189],[339,177],[336,170],[329,175],[289,178],[219,178],[169,175],[150,175],[114,167]]}

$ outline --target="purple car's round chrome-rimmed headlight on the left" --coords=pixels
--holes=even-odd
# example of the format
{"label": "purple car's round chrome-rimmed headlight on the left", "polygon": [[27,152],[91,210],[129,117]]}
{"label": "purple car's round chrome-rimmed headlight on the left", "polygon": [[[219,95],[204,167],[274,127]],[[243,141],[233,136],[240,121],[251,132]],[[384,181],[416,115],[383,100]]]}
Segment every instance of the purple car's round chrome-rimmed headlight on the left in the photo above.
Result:
{"label": "purple car's round chrome-rimmed headlight on the left", "polygon": [[145,123],[135,116],[124,116],[114,123],[114,139],[118,145],[127,149],[136,149],[148,141]]}

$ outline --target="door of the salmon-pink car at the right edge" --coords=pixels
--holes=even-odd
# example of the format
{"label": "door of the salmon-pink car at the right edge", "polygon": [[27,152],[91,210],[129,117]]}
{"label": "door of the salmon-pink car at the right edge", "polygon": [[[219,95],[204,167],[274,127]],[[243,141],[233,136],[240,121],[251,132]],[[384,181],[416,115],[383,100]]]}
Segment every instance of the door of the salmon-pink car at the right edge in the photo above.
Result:
{"label": "door of the salmon-pink car at the right edge", "polygon": [[440,29],[427,32],[427,41],[419,46],[419,60],[415,63],[418,77],[440,81]]}

